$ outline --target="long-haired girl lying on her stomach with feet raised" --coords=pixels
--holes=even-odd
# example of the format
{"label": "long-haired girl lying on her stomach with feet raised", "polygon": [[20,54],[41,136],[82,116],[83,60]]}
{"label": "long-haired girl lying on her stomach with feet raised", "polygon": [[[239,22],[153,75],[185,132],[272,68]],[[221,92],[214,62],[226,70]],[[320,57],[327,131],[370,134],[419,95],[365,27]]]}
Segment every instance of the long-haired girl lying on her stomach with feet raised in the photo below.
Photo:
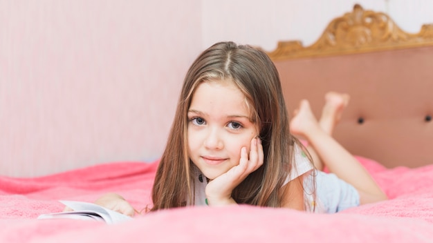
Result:
{"label": "long-haired girl lying on her stomach with feet raised", "polygon": [[[330,115],[317,122],[302,101],[289,130],[278,72],[268,56],[233,42],[214,44],[185,77],[151,211],[250,204],[335,213],[385,200],[367,171],[331,137],[341,105],[326,108]],[[331,173],[317,170],[291,133],[305,137],[317,168],[323,163]],[[117,194],[97,203],[133,214]]]}

